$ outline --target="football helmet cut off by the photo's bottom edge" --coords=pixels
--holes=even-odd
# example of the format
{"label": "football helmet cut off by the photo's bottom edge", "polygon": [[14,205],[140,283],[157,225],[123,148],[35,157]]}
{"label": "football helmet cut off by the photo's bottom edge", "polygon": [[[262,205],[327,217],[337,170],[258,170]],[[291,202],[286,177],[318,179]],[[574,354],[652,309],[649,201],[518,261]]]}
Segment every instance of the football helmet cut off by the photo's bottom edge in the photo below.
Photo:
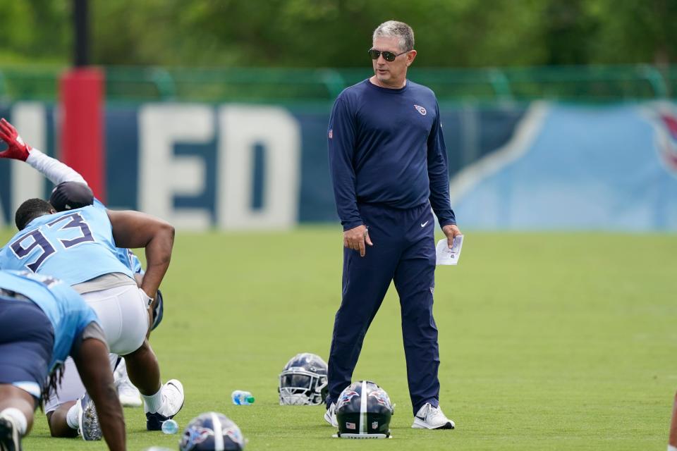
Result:
{"label": "football helmet cut off by the photo's bottom edge", "polygon": [[183,430],[180,451],[241,451],[246,440],[238,425],[224,414],[207,412],[188,423]]}

